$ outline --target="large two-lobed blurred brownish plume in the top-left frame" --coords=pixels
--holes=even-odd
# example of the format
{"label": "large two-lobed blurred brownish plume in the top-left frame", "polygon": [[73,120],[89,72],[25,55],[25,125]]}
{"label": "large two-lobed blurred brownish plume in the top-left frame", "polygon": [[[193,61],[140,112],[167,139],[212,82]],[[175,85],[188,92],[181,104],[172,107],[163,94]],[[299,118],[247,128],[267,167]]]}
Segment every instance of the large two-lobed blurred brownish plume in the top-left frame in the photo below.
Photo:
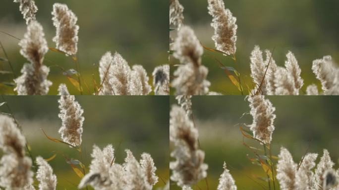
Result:
{"label": "large two-lobed blurred brownish plume in the top-left frame", "polygon": [[50,68],[43,65],[48,46],[41,24],[37,21],[30,22],[19,46],[21,55],[30,63],[24,64],[22,75],[14,79],[14,91],[17,91],[18,95],[46,95],[52,82],[47,80]]}

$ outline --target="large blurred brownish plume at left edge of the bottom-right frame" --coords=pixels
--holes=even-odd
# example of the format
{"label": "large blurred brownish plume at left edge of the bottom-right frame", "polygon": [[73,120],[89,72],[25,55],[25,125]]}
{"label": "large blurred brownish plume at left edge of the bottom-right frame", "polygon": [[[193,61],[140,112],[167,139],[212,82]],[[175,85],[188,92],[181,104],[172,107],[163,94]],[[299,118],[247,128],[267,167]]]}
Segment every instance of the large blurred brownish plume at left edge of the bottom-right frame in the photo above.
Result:
{"label": "large blurred brownish plume at left edge of the bottom-right frame", "polygon": [[170,111],[169,140],[175,149],[169,163],[170,179],[180,187],[190,186],[207,176],[208,165],[204,163],[205,153],[198,148],[198,130],[183,108],[174,105]]}

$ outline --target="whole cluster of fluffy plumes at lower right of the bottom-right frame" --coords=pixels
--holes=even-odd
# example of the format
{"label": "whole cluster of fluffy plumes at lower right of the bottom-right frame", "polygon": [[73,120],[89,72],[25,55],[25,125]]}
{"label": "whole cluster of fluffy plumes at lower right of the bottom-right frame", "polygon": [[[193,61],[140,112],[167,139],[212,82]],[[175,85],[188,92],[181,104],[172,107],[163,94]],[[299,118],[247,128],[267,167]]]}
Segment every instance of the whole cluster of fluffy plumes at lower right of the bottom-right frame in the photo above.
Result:
{"label": "whole cluster of fluffy plumes at lower right of the bottom-right frame", "polygon": [[277,179],[281,190],[337,190],[339,171],[333,169],[334,163],[329,152],[324,149],[323,156],[316,165],[317,156],[316,153],[307,153],[296,164],[289,151],[282,147],[277,164]]}

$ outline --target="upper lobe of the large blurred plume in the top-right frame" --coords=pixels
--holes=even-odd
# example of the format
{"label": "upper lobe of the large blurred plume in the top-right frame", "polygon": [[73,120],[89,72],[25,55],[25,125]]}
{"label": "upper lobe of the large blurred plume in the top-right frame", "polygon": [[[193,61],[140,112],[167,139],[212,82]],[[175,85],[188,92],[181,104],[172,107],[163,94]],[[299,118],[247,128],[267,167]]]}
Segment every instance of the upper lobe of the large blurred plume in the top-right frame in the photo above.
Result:
{"label": "upper lobe of the large blurred plume in the top-right frame", "polygon": [[182,64],[192,63],[196,67],[201,64],[201,55],[204,52],[194,31],[188,26],[182,26],[173,44],[173,56]]}

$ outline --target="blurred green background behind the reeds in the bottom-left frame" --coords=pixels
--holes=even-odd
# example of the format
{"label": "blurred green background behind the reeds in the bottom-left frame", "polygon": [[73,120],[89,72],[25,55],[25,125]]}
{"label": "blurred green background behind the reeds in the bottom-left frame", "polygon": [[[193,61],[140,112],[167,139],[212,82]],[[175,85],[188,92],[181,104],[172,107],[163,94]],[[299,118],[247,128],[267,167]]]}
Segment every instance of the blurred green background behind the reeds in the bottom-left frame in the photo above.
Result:
{"label": "blurred green background behind the reeds in the bottom-left frame", "polygon": [[[69,158],[79,159],[79,153],[67,145],[48,140],[41,128],[56,139],[60,139],[61,126],[58,96],[5,96],[10,109],[22,126],[27,142],[32,147],[33,156],[51,157],[59,151]],[[148,152],[157,167],[159,182],[156,187],[164,187],[169,179],[169,98],[166,96],[76,96],[84,109],[82,147],[83,160],[90,164],[94,144],[103,148],[113,144],[116,163],[123,163],[124,150],[130,149],[136,159]],[[2,100],[1,100],[2,102]],[[1,112],[8,113],[6,105]],[[120,143],[120,145],[119,145]],[[57,155],[49,162],[57,176],[57,190],[74,190],[80,178],[73,172],[65,158]]]}

